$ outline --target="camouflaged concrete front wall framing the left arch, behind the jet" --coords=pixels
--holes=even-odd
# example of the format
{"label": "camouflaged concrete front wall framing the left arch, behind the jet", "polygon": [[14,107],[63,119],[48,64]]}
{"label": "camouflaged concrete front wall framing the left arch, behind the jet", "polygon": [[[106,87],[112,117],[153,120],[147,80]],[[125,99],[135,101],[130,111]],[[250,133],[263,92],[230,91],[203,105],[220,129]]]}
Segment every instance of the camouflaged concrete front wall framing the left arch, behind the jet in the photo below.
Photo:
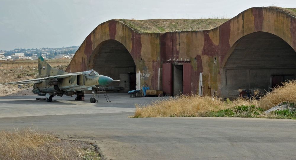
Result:
{"label": "camouflaged concrete front wall framing the left arch, behind the jet", "polygon": [[79,72],[95,68],[95,56],[102,42],[116,40],[123,44],[136,64],[137,84],[161,90],[159,33],[139,34],[114,20],[97,26],[76,51],[67,70]]}

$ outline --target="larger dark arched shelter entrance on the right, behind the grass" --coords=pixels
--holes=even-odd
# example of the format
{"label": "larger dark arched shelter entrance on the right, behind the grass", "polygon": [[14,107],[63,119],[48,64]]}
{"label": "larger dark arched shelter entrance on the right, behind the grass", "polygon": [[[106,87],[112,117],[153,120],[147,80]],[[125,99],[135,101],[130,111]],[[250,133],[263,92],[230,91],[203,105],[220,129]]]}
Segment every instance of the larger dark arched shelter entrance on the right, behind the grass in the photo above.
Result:
{"label": "larger dark arched shelter entrance on the right, behind the grass", "polygon": [[221,96],[236,97],[240,89],[260,93],[296,78],[296,52],[280,37],[255,32],[240,38],[221,66]]}

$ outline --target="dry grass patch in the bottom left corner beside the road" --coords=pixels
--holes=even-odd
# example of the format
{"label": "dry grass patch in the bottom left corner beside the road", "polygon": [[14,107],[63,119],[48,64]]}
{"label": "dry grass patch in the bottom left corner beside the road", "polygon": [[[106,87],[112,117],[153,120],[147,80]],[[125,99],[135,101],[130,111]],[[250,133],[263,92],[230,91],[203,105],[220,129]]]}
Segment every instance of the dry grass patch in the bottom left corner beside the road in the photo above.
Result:
{"label": "dry grass patch in the bottom left corner beside the road", "polygon": [[94,147],[81,141],[61,140],[52,134],[30,128],[0,131],[0,159],[99,159]]}

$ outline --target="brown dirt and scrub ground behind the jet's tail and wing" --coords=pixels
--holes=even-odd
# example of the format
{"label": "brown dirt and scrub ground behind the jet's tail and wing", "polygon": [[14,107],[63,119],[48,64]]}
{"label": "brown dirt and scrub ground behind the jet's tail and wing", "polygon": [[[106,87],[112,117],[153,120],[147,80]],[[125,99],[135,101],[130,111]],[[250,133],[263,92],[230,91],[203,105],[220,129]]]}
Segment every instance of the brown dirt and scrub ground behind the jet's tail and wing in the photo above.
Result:
{"label": "brown dirt and scrub ground behind the jet's tail and wing", "polygon": [[[47,62],[54,68],[65,70],[71,59],[54,59]],[[33,84],[4,85],[4,83],[34,79],[38,75],[37,60],[0,61],[0,96],[34,95]]]}

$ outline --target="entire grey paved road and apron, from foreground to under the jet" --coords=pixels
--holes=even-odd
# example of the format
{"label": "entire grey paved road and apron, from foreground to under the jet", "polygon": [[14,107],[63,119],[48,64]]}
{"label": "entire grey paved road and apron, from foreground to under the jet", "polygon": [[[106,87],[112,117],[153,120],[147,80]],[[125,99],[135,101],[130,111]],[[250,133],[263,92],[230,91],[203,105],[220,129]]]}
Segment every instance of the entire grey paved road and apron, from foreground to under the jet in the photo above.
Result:
{"label": "entire grey paved road and apron, from foreground to under the jet", "polygon": [[[94,140],[106,159],[116,160],[295,159],[296,156],[295,120],[127,118],[133,114],[134,103],[149,103],[154,98],[124,98],[122,94],[110,96],[123,100],[116,102],[111,99],[106,104],[66,102],[67,98],[52,104],[35,100],[33,105],[42,104],[43,110],[37,107],[38,111],[33,114],[46,115],[26,117],[18,116],[23,116],[22,111],[32,114],[29,111],[35,110],[30,100],[32,97],[1,97],[0,115],[4,117],[2,113],[5,112],[7,116],[0,118],[0,129],[14,130],[34,125],[62,138]],[[80,109],[83,107],[86,113]],[[79,111],[73,111],[76,109]],[[97,113],[88,113],[91,110]],[[15,117],[9,114],[10,111]],[[61,114],[61,111],[66,114]]]}

